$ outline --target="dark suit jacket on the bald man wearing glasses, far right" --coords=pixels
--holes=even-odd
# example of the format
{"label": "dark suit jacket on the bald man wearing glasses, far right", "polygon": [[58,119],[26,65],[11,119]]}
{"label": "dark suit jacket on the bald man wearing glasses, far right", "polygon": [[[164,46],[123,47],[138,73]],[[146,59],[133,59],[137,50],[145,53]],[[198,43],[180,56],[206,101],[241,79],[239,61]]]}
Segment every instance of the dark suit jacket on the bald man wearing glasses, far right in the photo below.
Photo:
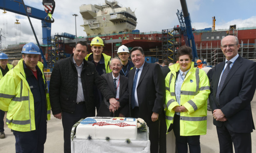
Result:
{"label": "dark suit jacket on the bald man wearing glasses, far right", "polygon": [[254,123],[251,112],[251,100],[256,87],[256,63],[238,56],[233,64],[220,92],[220,105],[215,103],[216,91],[225,61],[213,68],[211,93],[209,95],[211,110],[221,109],[227,121],[213,119],[213,124],[225,127],[236,133],[253,132]]}

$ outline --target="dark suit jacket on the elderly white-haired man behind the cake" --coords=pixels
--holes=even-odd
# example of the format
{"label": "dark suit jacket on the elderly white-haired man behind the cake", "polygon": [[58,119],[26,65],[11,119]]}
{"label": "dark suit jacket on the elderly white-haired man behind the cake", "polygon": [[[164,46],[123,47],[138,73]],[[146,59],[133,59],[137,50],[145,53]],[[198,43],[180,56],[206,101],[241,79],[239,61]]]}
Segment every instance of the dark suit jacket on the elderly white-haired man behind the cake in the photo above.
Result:
{"label": "dark suit jacket on the elderly white-haired man behind the cake", "polygon": [[[128,78],[125,76],[120,76],[120,82],[119,82],[119,99],[124,95],[124,92],[126,92],[126,89],[128,87]],[[111,90],[111,92],[115,95],[115,89],[114,89],[114,82],[113,82],[113,76],[112,72],[111,73],[106,73],[101,75],[102,79],[106,81],[107,86]],[[128,102],[128,101],[127,101]],[[113,113],[109,112],[109,100],[103,98],[102,103],[100,105],[99,111],[97,113],[97,116],[100,117],[113,117]],[[119,108],[115,112],[115,116],[118,116],[119,113],[123,114],[125,117],[129,116],[129,104],[127,103],[126,105],[123,105],[123,107]]]}

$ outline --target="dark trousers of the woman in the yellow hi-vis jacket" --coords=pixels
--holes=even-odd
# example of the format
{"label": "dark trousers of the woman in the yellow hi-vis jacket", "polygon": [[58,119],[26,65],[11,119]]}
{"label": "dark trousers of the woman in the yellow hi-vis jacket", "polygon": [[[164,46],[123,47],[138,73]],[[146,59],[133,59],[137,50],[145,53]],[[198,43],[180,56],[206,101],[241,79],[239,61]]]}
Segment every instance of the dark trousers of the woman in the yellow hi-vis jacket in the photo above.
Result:
{"label": "dark trousers of the woman in the yellow hi-vis jacket", "polygon": [[200,135],[180,136],[180,115],[175,114],[173,118],[173,132],[176,139],[178,153],[200,153]]}

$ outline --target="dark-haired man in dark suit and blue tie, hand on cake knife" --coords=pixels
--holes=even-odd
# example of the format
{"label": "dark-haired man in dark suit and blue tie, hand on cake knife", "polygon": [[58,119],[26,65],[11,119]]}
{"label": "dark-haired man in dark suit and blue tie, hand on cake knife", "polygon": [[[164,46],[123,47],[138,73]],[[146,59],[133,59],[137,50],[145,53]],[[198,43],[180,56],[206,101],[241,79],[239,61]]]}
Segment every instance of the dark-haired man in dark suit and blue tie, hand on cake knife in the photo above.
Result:
{"label": "dark-haired man in dark suit and blue tie, hand on cake knife", "polygon": [[[159,146],[159,115],[162,114],[165,100],[165,81],[159,64],[145,62],[141,47],[130,50],[132,63],[136,68],[130,70],[128,91],[120,101],[124,105],[129,98],[131,116],[142,118],[149,127],[150,152],[157,153]],[[125,100],[126,99],[126,100]]]}

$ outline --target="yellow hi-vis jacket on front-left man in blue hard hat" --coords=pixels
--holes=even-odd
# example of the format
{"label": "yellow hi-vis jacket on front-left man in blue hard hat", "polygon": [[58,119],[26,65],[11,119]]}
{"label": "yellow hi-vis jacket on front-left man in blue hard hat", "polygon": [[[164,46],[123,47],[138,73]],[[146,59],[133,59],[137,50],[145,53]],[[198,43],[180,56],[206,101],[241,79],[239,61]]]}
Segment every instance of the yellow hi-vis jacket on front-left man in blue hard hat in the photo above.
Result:
{"label": "yellow hi-vis jacket on front-left man in blue hard hat", "polygon": [[[37,66],[43,73],[43,64]],[[43,75],[43,79],[45,76]],[[45,81],[46,84],[46,81]],[[7,112],[8,128],[20,132],[36,130],[34,98],[23,68],[23,59],[0,80],[0,109]],[[46,92],[47,119],[50,120],[51,105]]]}

